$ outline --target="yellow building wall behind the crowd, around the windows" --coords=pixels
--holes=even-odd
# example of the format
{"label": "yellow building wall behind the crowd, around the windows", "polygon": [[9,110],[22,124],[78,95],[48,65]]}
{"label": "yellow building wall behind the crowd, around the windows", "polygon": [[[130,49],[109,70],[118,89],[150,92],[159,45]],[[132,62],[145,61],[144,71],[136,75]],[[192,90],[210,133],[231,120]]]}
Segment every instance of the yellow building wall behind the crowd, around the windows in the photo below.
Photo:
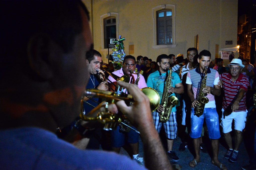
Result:
{"label": "yellow building wall behind the crowd, around the windows", "polygon": [[[186,57],[187,49],[196,47],[197,34],[199,35],[198,51],[209,50],[212,60],[220,57],[220,49],[237,46],[238,0],[92,0],[86,2],[87,8],[92,9],[89,11],[92,16],[94,49],[102,54],[104,62],[107,62],[105,56],[108,50],[103,49],[101,16],[110,12],[118,13],[118,34],[126,38],[124,51],[129,55],[129,45],[134,45],[134,53],[130,55],[135,58],[142,55],[155,61],[160,54],[177,55],[179,53]],[[177,46],[174,48],[152,47],[155,36],[152,8],[162,4],[172,4],[176,8],[175,44]],[[225,45],[225,41],[233,41],[233,44]]]}

